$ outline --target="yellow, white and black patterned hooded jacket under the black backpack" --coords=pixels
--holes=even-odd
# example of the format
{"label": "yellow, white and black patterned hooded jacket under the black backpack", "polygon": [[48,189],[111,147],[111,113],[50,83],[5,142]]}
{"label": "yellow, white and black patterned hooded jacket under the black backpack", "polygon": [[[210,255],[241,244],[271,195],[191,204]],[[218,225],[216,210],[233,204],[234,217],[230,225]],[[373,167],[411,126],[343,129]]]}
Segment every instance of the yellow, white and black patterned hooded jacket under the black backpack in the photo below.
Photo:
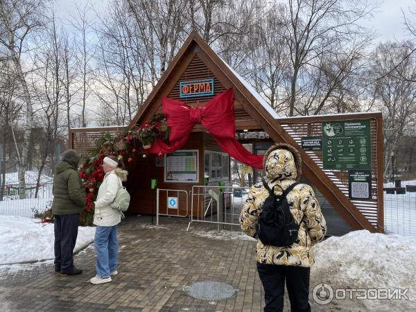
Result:
{"label": "yellow, white and black patterned hooded jacket under the black backpack", "polygon": [[[270,189],[275,185],[275,193],[280,195],[282,190],[300,179],[300,155],[287,144],[272,146],[264,156],[264,168]],[[261,214],[261,206],[268,197],[268,190],[262,183],[254,185],[248,193],[248,199],[241,210],[241,229],[257,238],[256,224]],[[324,238],[327,225],[322,216],[320,206],[315,198],[313,189],[308,184],[297,184],[288,193],[288,204],[291,214],[299,224],[299,235],[290,247],[275,247],[263,245],[257,239],[257,262],[284,266],[311,267],[314,263],[312,246]]]}

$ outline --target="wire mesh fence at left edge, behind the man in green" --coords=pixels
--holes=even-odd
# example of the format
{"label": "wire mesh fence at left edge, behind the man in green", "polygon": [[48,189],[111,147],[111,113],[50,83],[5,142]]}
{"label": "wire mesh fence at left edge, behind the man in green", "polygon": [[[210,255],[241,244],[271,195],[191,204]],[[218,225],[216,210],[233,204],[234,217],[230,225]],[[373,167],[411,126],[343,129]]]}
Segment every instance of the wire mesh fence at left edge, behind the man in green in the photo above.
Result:
{"label": "wire mesh fence at left edge, behind the man in green", "polygon": [[[16,188],[17,186],[13,186]],[[49,209],[52,204],[52,183],[42,184],[35,198],[35,189],[29,187],[26,190],[26,198],[19,199],[17,193],[6,195],[0,201],[0,215],[35,217],[35,214]]]}

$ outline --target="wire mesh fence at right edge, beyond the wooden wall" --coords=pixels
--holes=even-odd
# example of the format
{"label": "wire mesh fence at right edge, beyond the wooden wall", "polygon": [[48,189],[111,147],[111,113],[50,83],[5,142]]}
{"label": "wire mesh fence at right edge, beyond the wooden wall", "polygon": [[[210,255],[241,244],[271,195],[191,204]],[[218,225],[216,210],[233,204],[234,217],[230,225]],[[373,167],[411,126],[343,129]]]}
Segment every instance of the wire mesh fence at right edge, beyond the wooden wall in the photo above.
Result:
{"label": "wire mesh fence at right edge, beyond the wooden wall", "polygon": [[416,180],[384,184],[386,234],[416,237]]}

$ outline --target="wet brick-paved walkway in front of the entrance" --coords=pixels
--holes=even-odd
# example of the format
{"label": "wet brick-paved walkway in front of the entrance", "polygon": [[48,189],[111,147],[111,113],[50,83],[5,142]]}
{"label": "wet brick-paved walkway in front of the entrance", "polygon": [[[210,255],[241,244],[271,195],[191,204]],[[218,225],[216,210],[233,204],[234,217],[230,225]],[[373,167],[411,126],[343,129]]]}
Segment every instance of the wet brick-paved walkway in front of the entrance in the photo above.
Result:
{"label": "wet brick-paved walkway in front of the entrance", "polygon": [[[89,283],[95,275],[92,246],[75,257],[83,275],[55,275],[51,261],[1,268],[0,311],[262,311],[255,242],[201,236],[209,226],[193,223],[186,232],[187,224],[162,218],[156,227],[148,216],[123,220],[119,275],[108,284]],[[200,300],[185,291],[197,281],[220,281],[238,291],[224,300]]]}

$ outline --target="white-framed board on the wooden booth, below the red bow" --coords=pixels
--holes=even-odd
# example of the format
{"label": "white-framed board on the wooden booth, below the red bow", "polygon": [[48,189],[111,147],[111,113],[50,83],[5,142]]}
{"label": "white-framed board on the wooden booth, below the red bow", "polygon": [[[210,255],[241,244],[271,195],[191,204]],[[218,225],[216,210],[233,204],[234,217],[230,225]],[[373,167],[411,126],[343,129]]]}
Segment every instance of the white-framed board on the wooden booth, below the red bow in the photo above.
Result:
{"label": "white-framed board on the wooden booth, below the red bow", "polygon": [[165,155],[165,182],[198,182],[198,150]]}

